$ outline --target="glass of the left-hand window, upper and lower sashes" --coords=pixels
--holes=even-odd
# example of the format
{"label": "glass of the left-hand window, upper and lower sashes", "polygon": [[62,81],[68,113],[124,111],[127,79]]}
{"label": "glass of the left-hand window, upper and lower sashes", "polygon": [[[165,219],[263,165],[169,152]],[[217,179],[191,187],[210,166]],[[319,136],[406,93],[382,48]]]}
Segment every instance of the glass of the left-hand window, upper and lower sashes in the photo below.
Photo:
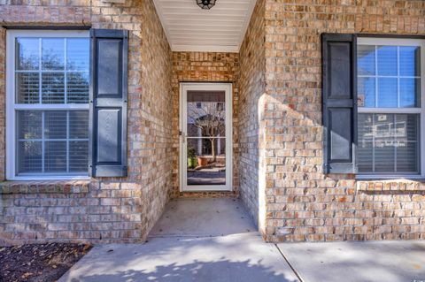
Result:
{"label": "glass of the left-hand window, upper and lower sashes", "polygon": [[[17,38],[15,53],[16,103],[89,103],[89,38]],[[18,173],[87,173],[89,111],[16,111],[16,120]]]}

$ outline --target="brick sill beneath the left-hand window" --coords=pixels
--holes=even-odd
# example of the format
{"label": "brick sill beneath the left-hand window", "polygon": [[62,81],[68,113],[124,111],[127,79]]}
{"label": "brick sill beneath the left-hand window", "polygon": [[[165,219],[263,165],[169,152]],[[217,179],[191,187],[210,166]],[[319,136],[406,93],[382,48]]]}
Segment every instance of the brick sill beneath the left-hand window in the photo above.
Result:
{"label": "brick sill beneath the left-hand window", "polygon": [[85,194],[89,193],[89,179],[32,180],[0,182],[0,194]]}

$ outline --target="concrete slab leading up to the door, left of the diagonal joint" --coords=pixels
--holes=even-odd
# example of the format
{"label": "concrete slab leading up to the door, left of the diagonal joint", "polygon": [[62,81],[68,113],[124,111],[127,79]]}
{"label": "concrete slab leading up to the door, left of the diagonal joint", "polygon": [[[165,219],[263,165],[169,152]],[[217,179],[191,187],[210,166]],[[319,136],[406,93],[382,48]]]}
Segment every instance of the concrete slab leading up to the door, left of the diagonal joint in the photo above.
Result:
{"label": "concrete slab leading up to the door, left of the diagonal joint", "polygon": [[171,201],[145,244],[101,245],[59,281],[298,281],[238,200]]}

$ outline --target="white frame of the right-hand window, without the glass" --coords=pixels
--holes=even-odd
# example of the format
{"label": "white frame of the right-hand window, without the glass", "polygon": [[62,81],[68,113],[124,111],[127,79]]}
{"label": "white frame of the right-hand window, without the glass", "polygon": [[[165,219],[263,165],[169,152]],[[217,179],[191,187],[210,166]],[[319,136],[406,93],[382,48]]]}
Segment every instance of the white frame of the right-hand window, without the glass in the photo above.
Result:
{"label": "white frame of the right-hand window, without the glass", "polygon": [[[390,45],[390,46],[420,46],[421,47],[421,108],[365,108],[358,107],[358,113],[405,113],[420,115],[420,173],[403,174],[403,173],[365,173],[360,172],[357,179],[424,179],[425,178],[425,40],[410,38],[376,38],[376,37],[359,37],[358,45]],[[357,74],[356,74],[357,75]],[[356,86],[357,87],[357,86]]]}

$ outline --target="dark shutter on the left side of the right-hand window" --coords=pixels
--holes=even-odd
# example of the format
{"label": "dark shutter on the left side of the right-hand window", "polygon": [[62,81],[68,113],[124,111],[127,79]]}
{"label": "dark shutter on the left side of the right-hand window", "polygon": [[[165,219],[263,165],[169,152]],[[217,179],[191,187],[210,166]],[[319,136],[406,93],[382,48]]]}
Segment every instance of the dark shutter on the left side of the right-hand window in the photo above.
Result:
{"label": "dark shutter on the left side of the right-hand window", "polygon": [[357,173],[357,42],[355,34],[322,34],[325,173]]}

